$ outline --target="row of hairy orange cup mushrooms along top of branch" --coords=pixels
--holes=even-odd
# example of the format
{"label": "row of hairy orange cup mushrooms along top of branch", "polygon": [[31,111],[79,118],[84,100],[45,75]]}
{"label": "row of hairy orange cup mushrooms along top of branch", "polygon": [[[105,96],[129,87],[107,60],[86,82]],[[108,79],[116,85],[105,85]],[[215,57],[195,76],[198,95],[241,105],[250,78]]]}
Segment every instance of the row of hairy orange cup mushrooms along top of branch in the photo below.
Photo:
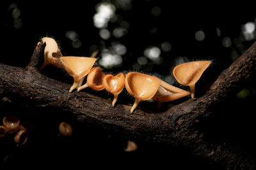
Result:
{"label": "row of hairy orange cup mushrooms along top of branch", "polygon": [[[63,56],[54,39],[42,38],[42,42],[46,43],[44,50],[45,62],[40,69],[48,64],[64,68],[67,73],[74,78],[74,83],[72,87],[70,87],[69,92],[72,92],[74,89],[77,89],[79,92],[86,87],[90,87],[93,90],[106,89],[114,96],[112,102],[113,107],[117,101],[118,94],[120,94],[125,87],[127,92],[135,98],[131,113],[138,106],[140,101],[146,101],[148,99],[157,101],[159,105],[164,102],[174,101],[181,97],[188,96],[189,94],[191,94],[192,99],[195,99],[195,83],[211,64],[209,60],[201,60],[179,64],[173,69],[175,79],[181,85],[189,86],[190,93],[186,90],[174,87],[156,76],[150,76],[148,74],[131,72],[125,75],[123,73],[116,74],[116,76],[112,74],[106,75],[100,67],[93,67],[97,60],[95,58],[97,52],[94,52],[91,57]],[[87,76],[87,80],[86,83],[82,85],[85,76]]]}

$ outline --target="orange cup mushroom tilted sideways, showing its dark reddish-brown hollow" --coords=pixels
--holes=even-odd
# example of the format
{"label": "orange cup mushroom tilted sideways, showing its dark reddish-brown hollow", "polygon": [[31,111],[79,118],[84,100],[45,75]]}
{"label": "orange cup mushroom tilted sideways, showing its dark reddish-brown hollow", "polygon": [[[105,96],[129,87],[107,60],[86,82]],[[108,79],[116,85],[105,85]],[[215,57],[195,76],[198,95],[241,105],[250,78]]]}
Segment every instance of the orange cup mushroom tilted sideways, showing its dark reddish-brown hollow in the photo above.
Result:
{"label": "orange cup mushroom tilted sideways, showing its dark reddish-brown hollow", "polygon": [[91,69],[91,71],[88,73],[87,76],[87,81],[84,85],[79,87],[77,91],[79,92],[80,90],[90,87],[93,90],[102,90],[104,89],[103,85],[103,79],[104,79],[105,74],[103,73],[102,69],[100,67],[94,67]]}

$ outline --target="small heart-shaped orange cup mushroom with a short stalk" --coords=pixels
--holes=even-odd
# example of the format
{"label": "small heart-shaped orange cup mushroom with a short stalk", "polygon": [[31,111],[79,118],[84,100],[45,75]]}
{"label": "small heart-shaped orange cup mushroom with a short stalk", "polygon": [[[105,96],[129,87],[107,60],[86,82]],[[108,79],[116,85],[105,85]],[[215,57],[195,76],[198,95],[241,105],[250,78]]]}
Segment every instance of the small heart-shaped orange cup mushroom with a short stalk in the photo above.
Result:
{"label": "small heart-shaped orange cup mushroom with a short stalk", "polygon": [[118,94],[124,89],[125,76],[123,73],[119,73],[116,76],[108,74],[104,77],[103,85],[105,89],[114,95],[112,106],[115,106]]}

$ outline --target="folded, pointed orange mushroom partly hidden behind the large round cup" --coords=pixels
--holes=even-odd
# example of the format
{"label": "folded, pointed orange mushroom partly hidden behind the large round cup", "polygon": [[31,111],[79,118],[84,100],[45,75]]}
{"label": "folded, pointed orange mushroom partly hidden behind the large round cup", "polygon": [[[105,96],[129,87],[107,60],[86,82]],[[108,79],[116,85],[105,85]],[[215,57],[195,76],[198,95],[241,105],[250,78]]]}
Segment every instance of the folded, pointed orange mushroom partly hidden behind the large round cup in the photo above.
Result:
{"label": "folded, pointed orange mushroom partly hidden behind the large round cup", "polygon": [[154,101],[158,101],[159,103],[169,102],[190,94],[188,91],[170,85],[159,78],[157,78],[157,80],[159,81],[159,88],[155,96],[152,97]]}

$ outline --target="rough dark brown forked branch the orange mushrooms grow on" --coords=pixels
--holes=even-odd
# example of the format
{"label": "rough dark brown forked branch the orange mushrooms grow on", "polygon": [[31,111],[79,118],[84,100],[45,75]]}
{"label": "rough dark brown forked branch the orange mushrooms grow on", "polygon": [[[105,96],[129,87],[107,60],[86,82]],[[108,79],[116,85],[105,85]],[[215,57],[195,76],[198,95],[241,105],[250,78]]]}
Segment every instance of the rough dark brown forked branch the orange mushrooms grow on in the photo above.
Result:
{"label": "rough dark brown forked branch the orange mushrooms grow on", "polygon": [[254,169],[255,160],[237,148],[207,141],[195,128],[200,118],[216,111],[230,94],[252,78],[256,66],[256,43],[225,69],[195,101],[189,99],[163,113],[147,113],[131,104],[117,104],[86,92],[69,93],[70,85],[48,78],[38,71],[44,44],[40,44],[26,69],[0,64],[0,95],[11,101],[27,101],[37,108],[56,108],[77,115],[77,121],[117,132],[134,141],[150,141],[191,148],[193,154],[218,162],[230,169]]}

